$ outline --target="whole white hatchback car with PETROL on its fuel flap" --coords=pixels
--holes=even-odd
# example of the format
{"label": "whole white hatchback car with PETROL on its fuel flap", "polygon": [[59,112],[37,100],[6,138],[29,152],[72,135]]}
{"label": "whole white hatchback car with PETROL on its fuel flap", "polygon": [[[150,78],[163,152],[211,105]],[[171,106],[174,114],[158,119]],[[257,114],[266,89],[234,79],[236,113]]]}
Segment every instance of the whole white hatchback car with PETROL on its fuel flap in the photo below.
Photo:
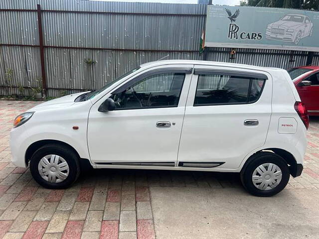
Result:
{"label": "whole white hatchback car with PETROL on its fuel flap", "polygon": [[302,173],[308,125],[285,70],[169,60],[30,109],[10,146],[46,188],[70,186],[89,164],[240,172],[248,192],[272,196]]}

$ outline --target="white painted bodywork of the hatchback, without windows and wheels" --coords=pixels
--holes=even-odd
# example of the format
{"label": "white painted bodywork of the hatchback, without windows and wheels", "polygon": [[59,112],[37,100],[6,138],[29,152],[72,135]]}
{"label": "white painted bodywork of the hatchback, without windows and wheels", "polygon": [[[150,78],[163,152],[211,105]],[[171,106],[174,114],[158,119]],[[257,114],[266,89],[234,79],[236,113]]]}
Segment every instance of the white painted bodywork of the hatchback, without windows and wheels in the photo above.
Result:
{"label": "white painted bodywork of the hatchback, without windows and wheels", "polygon": [[[227,69],[263,73],[268,77],[260,99],[253,104],[193,107],[198,75],[186,74],[178,107],[99,112],[113,90],[149,70],[165,67]],[[93,99],[74,102],[83,93],[62,97],[30,109],[27,122],[12,128],[12,162],[25,167],[27,148],[39,140],[57,140],[72,146],[80,158],[94,168],[145,168],[239,172],[254,153],[280,148],[303,163],[306,127],[294,109],[300,101],[289,77],[282,69],[232,63],[168,60],[147,63]],[[293,118],[296,133],[279,133],[280,118]],[[259,125],[243,126],[245,119],[258,119]],[[158,121],[175,122],[170,128],[157,128]],[[285,122],[285,121],[284,121]],[[288,122],[287,122],[288,123]],[[72,129],[78,126],[79,129]],[[225,162],[214,168],[181,167],[178,162]],[[173,161],[173,166],[112,165],[108,162]],[[102,163],[102,164],[99,164]]]}

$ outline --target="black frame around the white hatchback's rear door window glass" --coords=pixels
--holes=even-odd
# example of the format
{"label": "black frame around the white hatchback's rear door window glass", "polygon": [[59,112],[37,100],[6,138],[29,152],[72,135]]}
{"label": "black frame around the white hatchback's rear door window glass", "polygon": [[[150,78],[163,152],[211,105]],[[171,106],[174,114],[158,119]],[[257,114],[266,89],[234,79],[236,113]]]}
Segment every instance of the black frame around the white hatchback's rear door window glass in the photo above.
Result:
{"label": "black frame around the white hatchback's rear door window glass", "polygon": [[[199,75],[218,75],[218,74],[221,74],[221,71],[205,71],[206,74],[198,74]],[[214,72],[214,73],[212,73]],[[218,72],[217,74],[215,74],[215,72]],[[227,71],[228,72],[228,71]],[[255,73],[254,73],[255,74]],[[221,75],[226,75],[226,76],[229,76],[227,73],[225,74],[221,74]],[[261,74],[263,75],[263,74]],[[266,80],[268,79],[263,79],[263,78],[260,78],[260,77],[257,77],[256,75],[252,76],[252,75],[246,75],[246,76],[243,76],[243,75],[230,75],[230,76],[239,76],[239,77],[248,77],[248,78],[257,78],[257,79],[260,79],[260,80],[264,80],[264,84],[262,86],[262,88],[260,89],[260,94],[259,94],[259,97],[255,100],[255,101],[252,101],[252,102],[249,102],[249,98],[250,98],[250,93],[251,93],[251,86],[252,86],[252,81],[255,80],[255,79],[250,79],[249,80],[249,88],[248,88],[248,92],[247,92],[247,101],[246,102],[232,102],[232,103],[208,103],[208,104],[195,104],[195,98],[196,98],[196,93],[197,93],[197,89],[198,89],[198,78],[197,78],[197,85],[196,85],[196,91],[195,91],[195,96],[194,96],[194,103],[193,103],[193,107],[197,107],[197,106],[227,106],[227,105],[249,105],[249,104],[254,104],[256,103],[259,99],[260,99],[260,96],[262,95],[263,93],[263,90],[264,90],[264,87],[265,87],[265,84],[266,84]],[[264,75],[265,76],[265,75]],[[266,76],[265,76],[266,77]]]}

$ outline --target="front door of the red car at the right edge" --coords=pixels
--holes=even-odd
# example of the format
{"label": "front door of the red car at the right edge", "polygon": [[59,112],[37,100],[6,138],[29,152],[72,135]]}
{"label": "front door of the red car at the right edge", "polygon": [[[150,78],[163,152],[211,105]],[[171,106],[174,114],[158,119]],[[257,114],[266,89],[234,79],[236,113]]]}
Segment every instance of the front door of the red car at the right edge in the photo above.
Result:
{"label": "front door of the red car at the right edge", "polygon": [[319,113],[319,72],[303,80],[311,81],[311,86],[297,85],[301,101],[305,104],[309,113]]}

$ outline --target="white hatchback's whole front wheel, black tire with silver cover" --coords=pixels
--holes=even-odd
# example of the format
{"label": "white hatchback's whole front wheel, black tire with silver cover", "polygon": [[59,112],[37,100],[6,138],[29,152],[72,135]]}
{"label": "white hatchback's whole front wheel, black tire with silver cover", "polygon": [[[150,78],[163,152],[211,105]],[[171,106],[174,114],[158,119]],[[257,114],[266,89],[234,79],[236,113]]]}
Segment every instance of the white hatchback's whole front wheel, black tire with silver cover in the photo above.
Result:
{"label": "white hatchback's whole front wheel, black tire with silver cover", "polygon": [[47,144],[32,155],[30,171],[34,180],[45,188],[67,188],[80,174],[79,158],[67,146]]}

